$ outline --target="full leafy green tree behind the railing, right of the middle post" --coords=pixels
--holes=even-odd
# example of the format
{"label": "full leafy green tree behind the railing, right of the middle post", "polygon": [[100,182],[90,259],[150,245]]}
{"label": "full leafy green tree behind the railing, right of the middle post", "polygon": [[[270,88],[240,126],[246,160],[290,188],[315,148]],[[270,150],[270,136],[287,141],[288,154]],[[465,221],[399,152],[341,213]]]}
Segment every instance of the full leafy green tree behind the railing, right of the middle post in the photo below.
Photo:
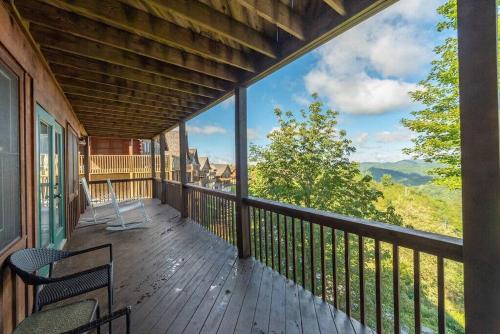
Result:
{"label": "full leafy green tree behind the railing, right of the middle post", "polygon": [[295,205],[401,224],[393,208],[378,210],[383,197],[349,160],[355,152],[344,130],[337,129],[338,113],[324,109],[316,95],[301,119],[275,109],[279,129],[267,146],[250,147],[250,191],[253,195]]}

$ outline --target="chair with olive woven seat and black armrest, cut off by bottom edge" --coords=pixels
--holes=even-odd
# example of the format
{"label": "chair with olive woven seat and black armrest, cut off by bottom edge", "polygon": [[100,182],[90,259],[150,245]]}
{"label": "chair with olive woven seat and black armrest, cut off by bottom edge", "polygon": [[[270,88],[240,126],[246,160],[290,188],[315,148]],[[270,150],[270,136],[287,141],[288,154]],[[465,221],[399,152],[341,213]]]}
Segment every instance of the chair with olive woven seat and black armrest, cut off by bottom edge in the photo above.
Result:
{"label": "chair with olive woven seat and black armrest, cut off by bottom edge", "polygon": [[130,333],[130,306],[124,307],[101,318],[99,303],[95,299],[81,300],[48,310],[33,313],[25,318],[13,334],[77,334],[87,333],[125,316],[126,333]]}

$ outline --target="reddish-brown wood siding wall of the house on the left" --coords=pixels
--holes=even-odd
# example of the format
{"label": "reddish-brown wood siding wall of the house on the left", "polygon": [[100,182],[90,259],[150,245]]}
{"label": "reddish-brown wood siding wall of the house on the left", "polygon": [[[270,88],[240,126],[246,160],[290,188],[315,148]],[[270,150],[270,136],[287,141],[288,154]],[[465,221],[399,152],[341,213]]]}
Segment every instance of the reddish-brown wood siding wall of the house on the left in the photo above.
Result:
{"label": "reddish-brown wood siding wall of the house on the left", "polygon": [[[83,128],[71,106],[57,86],[50,70],[18,23],[16,16],[6,2],[0,3],[0,57],[14,67],[21,84],[20,94],[20,156],[21,156],[21,237],[10,246],[0,250],[2,263],[0,284],[0,334],[11,333],[12,329],[31,310],[32,291],[19,278],[14,277],[5,266],[10,253],[24,247],[33,247],[36,233],[36,175],[35,175],[35,133],[34,107],[36,103],[54,116],[61,126],[76,129],[81,136]],[[78,198],[66,199],[68,234],[77,219]]]}

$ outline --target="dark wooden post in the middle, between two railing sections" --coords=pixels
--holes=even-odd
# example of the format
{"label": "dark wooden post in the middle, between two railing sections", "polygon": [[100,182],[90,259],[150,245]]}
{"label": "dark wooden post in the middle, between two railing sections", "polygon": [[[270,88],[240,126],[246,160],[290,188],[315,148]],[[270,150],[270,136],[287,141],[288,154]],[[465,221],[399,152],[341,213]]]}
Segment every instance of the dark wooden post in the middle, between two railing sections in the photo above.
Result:
{"label": "dark wooden post in the middle, between two railing sections", "polygon": [[246,258],[250,252],[250,223],[248,206],[243,199],[248,197],[247,162],[247,89],[237,87],[234,91],[235,105],[235,148],[236,148],[236,235],[238,256]]}

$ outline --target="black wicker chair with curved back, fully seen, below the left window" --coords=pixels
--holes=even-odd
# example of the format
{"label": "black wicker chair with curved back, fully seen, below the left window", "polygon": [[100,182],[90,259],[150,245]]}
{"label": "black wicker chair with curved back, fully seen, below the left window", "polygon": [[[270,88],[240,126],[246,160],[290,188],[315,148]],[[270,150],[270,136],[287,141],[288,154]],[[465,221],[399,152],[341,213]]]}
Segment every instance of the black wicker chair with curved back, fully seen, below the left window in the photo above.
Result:
{"label": "black wicker chair with curved back, fully seen, below the left window", "polygon": [[[109,248],[109,263],[62,277],[52,277],[54,264],[63,259],[89,253],[98,249]],[[10,268],[28,285],[35,287],[33,312],[43,306],[67,298],[78,296],[101,288],[108,289],[108,310],[113,304],[113,249],[111,244],[100,245],[78,251],[63,251],[47,248],[21,249],[8,258]],[[38,271],[49,266],[47,277]]]}

